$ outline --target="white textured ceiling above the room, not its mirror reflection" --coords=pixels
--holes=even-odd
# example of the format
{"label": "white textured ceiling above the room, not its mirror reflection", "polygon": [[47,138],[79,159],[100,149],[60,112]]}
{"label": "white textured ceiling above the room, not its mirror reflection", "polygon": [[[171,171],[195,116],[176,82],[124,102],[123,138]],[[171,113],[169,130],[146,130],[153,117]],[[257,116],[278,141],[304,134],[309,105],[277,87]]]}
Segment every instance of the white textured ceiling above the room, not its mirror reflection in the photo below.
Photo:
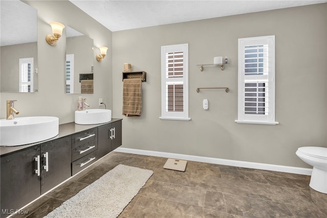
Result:
{"label": "white textured ceiling above the room, not its mirror reflection", "polygon": [[327,2],[314,0],[70,1],[113,32]]}

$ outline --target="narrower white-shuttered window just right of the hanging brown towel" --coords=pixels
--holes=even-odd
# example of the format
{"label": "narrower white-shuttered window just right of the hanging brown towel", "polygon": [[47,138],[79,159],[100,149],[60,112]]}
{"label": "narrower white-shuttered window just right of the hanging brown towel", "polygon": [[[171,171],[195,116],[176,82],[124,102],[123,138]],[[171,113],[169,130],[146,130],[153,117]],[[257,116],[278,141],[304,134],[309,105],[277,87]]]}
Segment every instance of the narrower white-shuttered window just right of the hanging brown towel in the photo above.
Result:
{"label": "narrower white-shuttered window just right of the hanging brown towel", "polygon": [[190,120],[188,57],[188,44],[161,46],[160,119]]}

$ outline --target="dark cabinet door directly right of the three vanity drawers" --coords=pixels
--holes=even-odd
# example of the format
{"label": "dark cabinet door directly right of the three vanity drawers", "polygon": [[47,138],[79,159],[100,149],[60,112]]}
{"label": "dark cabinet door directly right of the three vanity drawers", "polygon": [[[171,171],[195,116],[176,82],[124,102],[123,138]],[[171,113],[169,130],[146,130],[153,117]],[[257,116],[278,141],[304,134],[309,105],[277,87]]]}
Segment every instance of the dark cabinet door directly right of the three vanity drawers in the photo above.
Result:
{"label": "dark cabinet door directly right of the three vanity drawers", "polygon": [[98,127],[98,158],[105,156],[111,151],[110,129],[111,124]]}

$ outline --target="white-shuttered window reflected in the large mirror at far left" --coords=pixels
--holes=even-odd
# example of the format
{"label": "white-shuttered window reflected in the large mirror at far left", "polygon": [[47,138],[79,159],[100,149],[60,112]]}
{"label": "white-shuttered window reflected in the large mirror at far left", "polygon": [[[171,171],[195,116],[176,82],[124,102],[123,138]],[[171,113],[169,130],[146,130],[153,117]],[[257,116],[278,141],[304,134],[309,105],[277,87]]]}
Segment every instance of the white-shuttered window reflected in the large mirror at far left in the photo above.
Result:
{"label": "white-shuttered window reflected in the large mirror at far left", "polygon": [[34,92],[33,90],[33,58],[19,59],[19,92]]}

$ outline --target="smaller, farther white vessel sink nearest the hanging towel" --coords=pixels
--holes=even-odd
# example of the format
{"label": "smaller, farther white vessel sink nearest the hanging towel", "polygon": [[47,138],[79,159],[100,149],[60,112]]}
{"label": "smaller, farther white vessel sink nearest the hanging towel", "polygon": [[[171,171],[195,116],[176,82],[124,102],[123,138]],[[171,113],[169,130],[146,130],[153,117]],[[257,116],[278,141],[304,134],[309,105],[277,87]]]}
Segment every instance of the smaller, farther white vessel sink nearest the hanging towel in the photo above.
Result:
{"label": "smaller, farther white vessel sink nearest the hanging towel", "polygon": [[111,110],[87,109],[75,111],[75,123],[82,125],[103,124],[111,121]]}

